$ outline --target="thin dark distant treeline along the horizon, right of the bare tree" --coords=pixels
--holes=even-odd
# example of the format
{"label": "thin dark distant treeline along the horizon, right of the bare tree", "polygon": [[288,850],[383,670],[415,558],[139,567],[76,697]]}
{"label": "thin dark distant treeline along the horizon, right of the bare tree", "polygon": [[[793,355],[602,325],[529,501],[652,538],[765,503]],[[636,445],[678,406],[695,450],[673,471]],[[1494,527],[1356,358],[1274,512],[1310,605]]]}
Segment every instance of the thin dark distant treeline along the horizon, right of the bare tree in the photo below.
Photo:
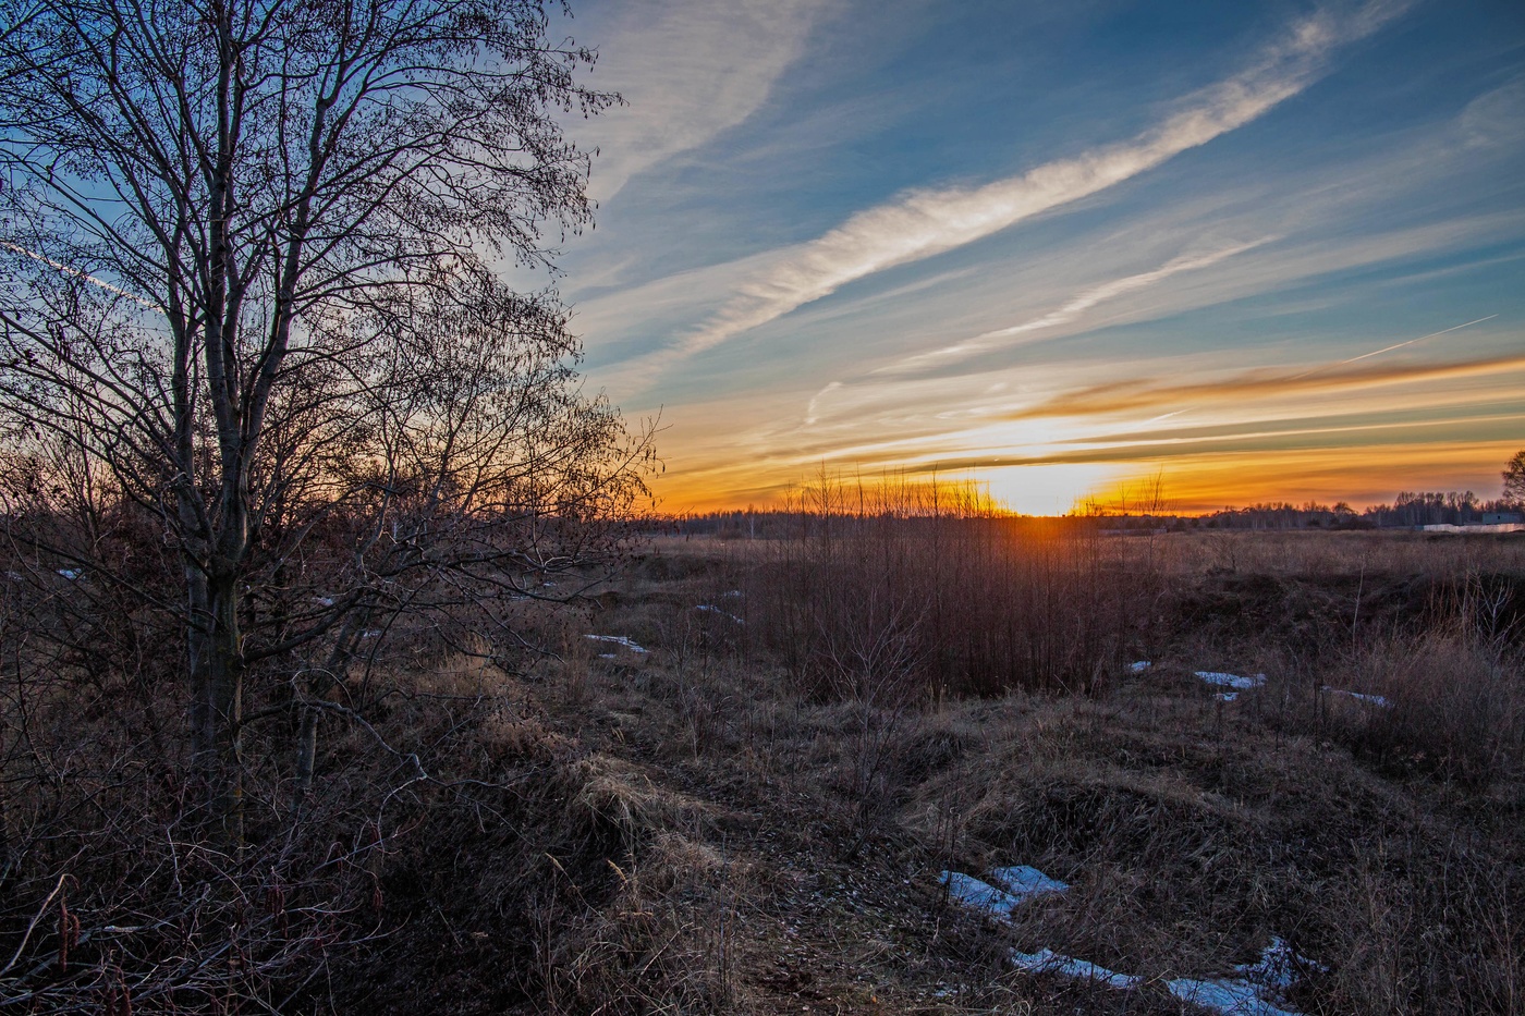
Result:
{"label": "thin dark distant treeline along the horizon, right of the bare tree", "polygon": [[[901,516],[907,519],[936,514],[941,517],[1000,516],[990,503],[981,503],[976,511],[965,505],[952,505],[947,511],[895,511],[883,505],[860,510],[852,503],[836,503],[827,511],[820,505],[804,510],[735,510],[694,514],[656,516],[650,529],[673,535],[718,535],[723,539],[776,540],[795,537],[819,525],[822,516],[880,517]],[[1159,529],[1383,529],[1415,528],[1427,525],[1484,525],[1488,522],[1522,522],[1520,505],[1510,500],[1479,500],[1469,491],[1400,491],[1391,505],[1371,505],[1356,511],[1347,502],[1321,505],[1305,502],[1270,502],[1244,508],[1223,508],[1202,516],[1180,516],[1165,511],[1127,511],[1106,505],[1089,505],[1084,513],[1069,516],[1074,520],[1092,520],[1103,529],[1159,531]]]}

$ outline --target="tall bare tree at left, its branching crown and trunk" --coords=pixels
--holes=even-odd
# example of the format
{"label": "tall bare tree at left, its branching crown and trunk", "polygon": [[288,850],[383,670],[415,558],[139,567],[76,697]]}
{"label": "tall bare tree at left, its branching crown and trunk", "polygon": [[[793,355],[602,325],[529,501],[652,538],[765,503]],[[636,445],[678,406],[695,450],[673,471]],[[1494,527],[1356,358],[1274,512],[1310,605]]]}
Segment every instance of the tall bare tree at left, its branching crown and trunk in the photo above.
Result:
{"label": "tall bare tree at left, its branching crown and trunk", "polygon": [[[180,589],[137,592],[186,632],[233,841],[252,667],[320,691],[378,616],[512,587],[566,560],[537,526],[637,490],[647,449],[576,395],[555,294],[488,272],[589,221],[558,117],[612,99],[543,6],[0,0],[0,427],[85,516],[159,520]],[[146,586],[87,531],[27,532]]]}

